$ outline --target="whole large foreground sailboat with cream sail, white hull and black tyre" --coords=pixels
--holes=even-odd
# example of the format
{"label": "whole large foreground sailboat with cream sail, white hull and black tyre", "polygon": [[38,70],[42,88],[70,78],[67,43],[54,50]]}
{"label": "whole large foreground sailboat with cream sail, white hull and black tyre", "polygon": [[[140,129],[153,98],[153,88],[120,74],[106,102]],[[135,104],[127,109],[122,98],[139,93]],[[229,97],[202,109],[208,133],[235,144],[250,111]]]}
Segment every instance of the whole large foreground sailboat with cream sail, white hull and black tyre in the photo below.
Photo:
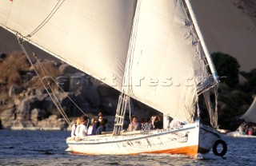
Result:
{"label": "whole large foreground sailboat with cream sail, white hull and black tyre", "polygon": [[[72,152],[226,154],[216,130],[218,74],[189,0],[2,0],[0,24],[17,35],[29,59],[24,41],[120,91],[114,131],[67,138]],[[184,125],[164,121],[162,129],[125,132],[130,97]],[[211,126],[202,124],[199,97]]]}

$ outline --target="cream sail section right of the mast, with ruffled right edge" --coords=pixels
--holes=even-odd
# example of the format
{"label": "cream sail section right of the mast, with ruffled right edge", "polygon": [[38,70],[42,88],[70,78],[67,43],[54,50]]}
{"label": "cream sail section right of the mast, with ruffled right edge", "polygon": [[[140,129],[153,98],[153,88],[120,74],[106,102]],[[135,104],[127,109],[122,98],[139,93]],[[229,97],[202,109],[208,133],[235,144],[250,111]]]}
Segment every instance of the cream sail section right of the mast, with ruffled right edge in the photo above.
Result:
{"label": "cream sail section right of the mast, with ruffled right edge", "polygon": [[138,1],[127,74],[130,96],[189,122],[207,77],[192,26],[182,1]]}

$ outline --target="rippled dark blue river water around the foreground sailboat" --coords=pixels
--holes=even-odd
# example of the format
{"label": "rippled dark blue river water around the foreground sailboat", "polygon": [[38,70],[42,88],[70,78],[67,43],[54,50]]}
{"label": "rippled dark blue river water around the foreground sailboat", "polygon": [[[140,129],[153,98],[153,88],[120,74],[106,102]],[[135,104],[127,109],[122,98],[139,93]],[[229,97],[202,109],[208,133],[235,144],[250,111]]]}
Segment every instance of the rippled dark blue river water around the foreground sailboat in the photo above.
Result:
{"label": "rippled dark blue river water around the foreground sailboat", "polygon": [[0,165],[255,165],[256,138],[223,136],[225,157],[182,155],[82,156],[65,152],[66,131],[0,130]]}

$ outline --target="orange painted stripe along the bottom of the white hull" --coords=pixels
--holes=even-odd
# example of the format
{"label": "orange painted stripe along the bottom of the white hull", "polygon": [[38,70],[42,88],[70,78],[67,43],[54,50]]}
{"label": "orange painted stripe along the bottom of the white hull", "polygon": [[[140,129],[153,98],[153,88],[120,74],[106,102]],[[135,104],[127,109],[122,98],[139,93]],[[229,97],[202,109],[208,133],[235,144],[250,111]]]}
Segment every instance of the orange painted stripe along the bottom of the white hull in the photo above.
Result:
{"label": "orange painted stripe along the bottom of the white hull", "polygon": [[[82,153],[82,152],[74,152],[74,151],[72,151],[72,152],[74,154],[94,155],[94,154],[90,154],[90,153]],[[184,155],[195,156],[195,155],[198,154],[198,145],[182,147],[182,148],[172,148],[172,149],[153,151],[153,152],[130,153],[128,155],[137,155],[137,154],[140,154],[140,153],[156,153],[156,154],[170,153],[170,154],[184,154]]]}

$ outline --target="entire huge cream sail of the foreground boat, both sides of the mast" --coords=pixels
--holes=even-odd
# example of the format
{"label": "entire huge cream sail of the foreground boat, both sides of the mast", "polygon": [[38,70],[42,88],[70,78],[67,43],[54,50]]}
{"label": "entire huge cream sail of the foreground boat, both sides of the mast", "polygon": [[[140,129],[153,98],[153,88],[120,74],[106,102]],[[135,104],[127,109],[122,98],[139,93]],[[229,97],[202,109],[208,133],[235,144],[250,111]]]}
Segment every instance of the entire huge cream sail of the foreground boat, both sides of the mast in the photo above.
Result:
{"label": "entire huge cream sail of the foreground boat, both sides of the mast", "polygon": [[0,0],[0,23],[107,85],[180,121],[208,88],[181,0]]}

